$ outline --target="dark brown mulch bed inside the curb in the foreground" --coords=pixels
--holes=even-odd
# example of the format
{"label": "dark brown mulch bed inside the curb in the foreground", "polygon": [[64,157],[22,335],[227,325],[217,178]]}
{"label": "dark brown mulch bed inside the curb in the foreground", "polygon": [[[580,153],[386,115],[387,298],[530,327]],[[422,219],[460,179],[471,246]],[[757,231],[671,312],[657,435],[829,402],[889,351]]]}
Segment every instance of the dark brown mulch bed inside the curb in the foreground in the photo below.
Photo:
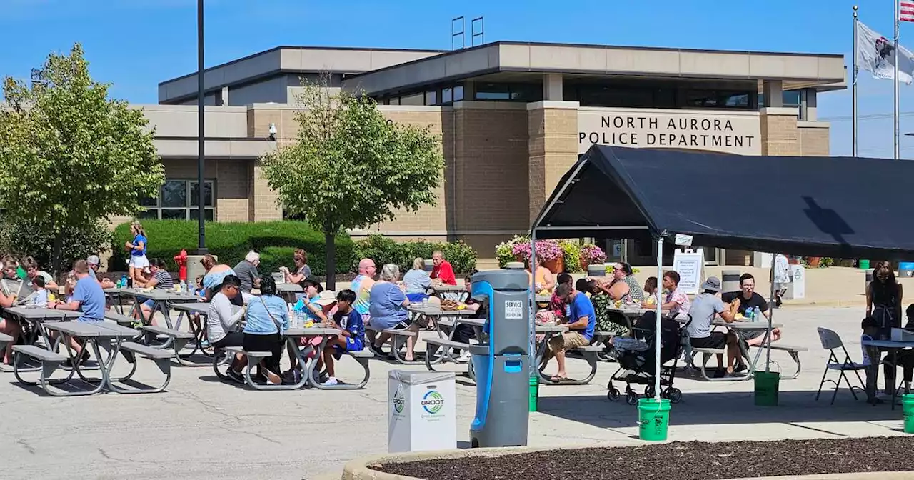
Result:
{"label": "dark brown mulch bed inside the curb in the foreground", "polygon": [[914,437],[677,442],[371,465],[434,480],[726,479],[914,471]]}

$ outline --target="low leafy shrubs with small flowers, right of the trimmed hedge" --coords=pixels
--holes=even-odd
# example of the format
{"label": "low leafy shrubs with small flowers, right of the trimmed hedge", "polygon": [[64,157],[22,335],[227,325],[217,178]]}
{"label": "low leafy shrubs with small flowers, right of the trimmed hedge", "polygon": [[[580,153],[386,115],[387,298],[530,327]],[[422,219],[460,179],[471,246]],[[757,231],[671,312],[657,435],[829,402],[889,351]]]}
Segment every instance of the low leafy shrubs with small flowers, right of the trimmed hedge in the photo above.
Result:
{"label": "low leafy shrubs with small flowers, right of the trimmed hedge", "polygon": [[375,261],[378,270],[386,263],[396,263],[400,272],[412,268],[412,261],[417,257],[430,261],[431,253],[440,250],[444,258],[451,262],[454,273],[462,275],[473,272],[476,268],[476,251],[462,241],[433,242],[406,241],[399,243],[383,235],[371,235],[365,240],[356,241],[353,265],[357,267],[360,259]]}

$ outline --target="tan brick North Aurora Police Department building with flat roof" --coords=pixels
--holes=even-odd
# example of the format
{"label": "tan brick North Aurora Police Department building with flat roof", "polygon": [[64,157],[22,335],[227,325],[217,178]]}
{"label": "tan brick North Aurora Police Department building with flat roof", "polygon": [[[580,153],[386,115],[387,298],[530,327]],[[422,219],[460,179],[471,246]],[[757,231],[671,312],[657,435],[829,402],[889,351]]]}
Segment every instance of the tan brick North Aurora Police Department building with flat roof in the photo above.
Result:
{"label": "tan brick North Aurora Police Department building with flat roof", "polygon": [[[302,79],[367,92],[388,119],[441,135],[437,206],[357,230],[462,239],[482,257],[526,232],[590,144],[740,155],[828,155],[819,92],[843,90],[841,55],[496,42],[454,51],[279,47],[207,69],[207,217],[282,219],[256,158],[291,141]],[[197,215],[197,75],[159,84],[144,105],[165,163],[154,218]],[[274,140],[270,138],[275,127]],[[614,242],[651,261],[652,245]],[[745,252],[711,261],[743,262]],[[728,258],[724,258],[728,257]]]}

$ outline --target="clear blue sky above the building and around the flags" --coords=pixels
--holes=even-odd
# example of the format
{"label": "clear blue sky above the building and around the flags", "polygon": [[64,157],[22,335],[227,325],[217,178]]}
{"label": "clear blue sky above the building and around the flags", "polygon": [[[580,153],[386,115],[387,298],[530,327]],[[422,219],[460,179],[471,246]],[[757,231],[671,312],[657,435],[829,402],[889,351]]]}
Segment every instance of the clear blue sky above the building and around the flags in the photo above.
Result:
{"label": "clear blue sky above the building and around the flags", "polygon": [[[860,19],[892,36],[893,0],[858,0]],[[196,0],[0,0],[0,75],[27,78],[49,51],[81,42],[112,96],[154,103],[159,81],[197,68]],[[277,45],[451,48],[451,18],[484,16],[485,41],[840,53],[850,64],[846,0],[207,0],[207,67]],[[469,32],[469,21],[467,22]],[[469,43],[469,34],[467,35]],[[914,24],[901,26],[914,49]],[[849,80],[849,79],[848,79]],[[859,154],[892,147],[892,83],[861,72]],[[914,132],[914,85],[901,85],[901,131]],[[910,112],[910,113],[906,113]],[[850,90],[824,94],[832,154],[851,151]],[[914,138],[902,137],[914,158]]]}

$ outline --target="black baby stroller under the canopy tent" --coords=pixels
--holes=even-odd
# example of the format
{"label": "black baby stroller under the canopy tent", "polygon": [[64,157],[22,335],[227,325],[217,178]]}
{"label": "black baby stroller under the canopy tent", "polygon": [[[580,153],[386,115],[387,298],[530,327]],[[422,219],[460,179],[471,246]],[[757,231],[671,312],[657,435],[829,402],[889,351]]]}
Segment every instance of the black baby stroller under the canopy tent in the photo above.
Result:
{"label": "black baby stroller under the canopy tent", "polygon": [[[635,322],[632,328],[632,338],[616,338],[613,340],[613,346],[618,352],[616,360],[619,362],[619,369],[612,374],[609,384],[606,386],[609,392],[606,397],[611,401],[618,401],[621,397],[619,389],[612,385],[613,381],[625,382],[625,402],[629,405],[638,403],[638,394],[632,389],[632,383],[645,385],[644,397],[654,397],[654,362],[656,356],[656,312],[646,312]],[[660,392],[661,398],[669,399],[673,403],[682,400],[683,392],[673,386],[675,378],[676,363],[682,354],[683,349],[683,329],[692,321],[689,316],[688,322],[680,324],[673,318],[661,319],[660,332],[660,361],[662,364],[660,370],[660,385],[666,387]],[[672,365],[666,363],[672,361]]]}

